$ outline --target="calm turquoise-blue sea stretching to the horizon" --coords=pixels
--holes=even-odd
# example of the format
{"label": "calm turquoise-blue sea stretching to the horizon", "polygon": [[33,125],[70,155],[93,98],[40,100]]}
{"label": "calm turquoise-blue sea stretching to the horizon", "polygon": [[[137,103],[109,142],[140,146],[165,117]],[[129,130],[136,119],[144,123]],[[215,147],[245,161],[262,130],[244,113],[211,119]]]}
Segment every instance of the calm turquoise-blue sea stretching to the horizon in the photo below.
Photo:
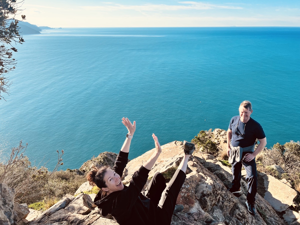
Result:
{"label": "calm turquoise-blue sea stretching to the horizon", "polygon": [[[25,35],[10,95],[0,101],[0,158],[19,141],[32,165],[64,149],[60,169],[118,153],[135,120],[129,158],[160,143],[228,129],[239,104],[267,147],[300,140],[300,28],[65,28]],[[42,165],[40,164],[40,165]]]}

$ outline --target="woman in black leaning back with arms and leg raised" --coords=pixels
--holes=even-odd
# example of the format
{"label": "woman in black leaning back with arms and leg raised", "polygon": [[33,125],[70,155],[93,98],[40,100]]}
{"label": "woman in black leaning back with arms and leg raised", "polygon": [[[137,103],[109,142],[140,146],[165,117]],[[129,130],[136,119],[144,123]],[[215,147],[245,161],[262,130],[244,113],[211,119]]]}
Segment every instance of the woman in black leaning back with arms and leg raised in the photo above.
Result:
{"label": "woman in black leaning back with arms and leg raised", "polygon": [[122,123],[128,129],[126,140],[117,156],[113,169],[102,167],[88,173],[87,179],[91,185],[100,188],[94,203],[101,214],[111,214],[119,224],[170,224],[176,199],[185,180],[187,161],[194,151],[194,145],[184,142],[183,159],[173,178],[166,185],[161,173],[156,173],[145,192],[142,192],[147,182],[148,174],[161,153],[161,146],[155,134],[156,150],[152,156],[132,176],[129,186],[122,184],[122,174],[128,162],[128,153],[136,123],[128,118],[122,118]]}

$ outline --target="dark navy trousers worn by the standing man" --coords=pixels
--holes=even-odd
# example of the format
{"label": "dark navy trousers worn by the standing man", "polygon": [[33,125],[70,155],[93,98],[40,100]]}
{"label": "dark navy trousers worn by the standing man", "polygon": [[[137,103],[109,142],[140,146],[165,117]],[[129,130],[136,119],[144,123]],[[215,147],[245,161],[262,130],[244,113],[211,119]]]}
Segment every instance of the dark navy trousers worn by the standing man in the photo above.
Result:
{"label": "dark navy trousers worn by the standing man", "polygon": [[251,152],[243,152],[241,162],[234,162],[232,165],[232,190],[238,190],[241,187],[241,169],[242,165],[246,170],[246,181],[248,182],[248,193],[247,193],[247,201],[249,203],[255,202],[255,195],[257,193],[257,171],[256,171],[256,163],[255,158],[250,162],[246,162],[243,160],[245,154]]}

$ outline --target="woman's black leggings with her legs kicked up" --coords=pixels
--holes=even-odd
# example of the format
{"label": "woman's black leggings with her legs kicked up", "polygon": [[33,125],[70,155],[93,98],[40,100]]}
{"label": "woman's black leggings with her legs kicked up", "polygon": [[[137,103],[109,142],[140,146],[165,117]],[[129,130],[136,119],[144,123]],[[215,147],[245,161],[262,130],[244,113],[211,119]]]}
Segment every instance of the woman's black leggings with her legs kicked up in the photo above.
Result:
{"label": "woman's black leggings with her legs kicked up", "polygon": [[156,223],[170,224],[176,200],[180,189],[186,178],[182,170],[176,170],[170,182],[166,185],[166,180],[161,173],[156,173],[145,189],[145,196],[148,197],[156,208]]}

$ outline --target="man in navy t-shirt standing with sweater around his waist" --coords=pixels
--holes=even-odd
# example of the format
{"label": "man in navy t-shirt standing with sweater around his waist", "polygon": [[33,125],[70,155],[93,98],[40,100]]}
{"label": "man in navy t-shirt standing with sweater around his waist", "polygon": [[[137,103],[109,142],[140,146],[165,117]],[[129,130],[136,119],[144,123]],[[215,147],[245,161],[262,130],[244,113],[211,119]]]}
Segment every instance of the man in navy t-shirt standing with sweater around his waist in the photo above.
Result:
{"label": "man in navy t-shirt standing with sweater around his waist", "polygon": [[[255,215],[255,195],[257,192],[257,172],[255,157],[266,146],[267,140],[261,125],[250,117],[251,102],[243,101],[239,107],[239,116],[232,117],[227,131],[227,155],[232,164],[231,193],[241,193],[241,169],[244,166],[248,182],[246,206],[248,211]],[[255,147],[256,139],[259,145]]]}

